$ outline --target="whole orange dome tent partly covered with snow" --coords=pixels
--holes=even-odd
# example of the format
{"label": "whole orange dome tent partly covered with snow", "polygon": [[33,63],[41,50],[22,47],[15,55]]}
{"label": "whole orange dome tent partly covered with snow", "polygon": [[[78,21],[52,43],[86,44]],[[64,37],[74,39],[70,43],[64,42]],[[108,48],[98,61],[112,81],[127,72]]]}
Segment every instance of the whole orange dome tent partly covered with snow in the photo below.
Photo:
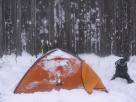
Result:
{"label": "whole orange dome tent partly covered with snow", "polygon": [[106,91],[92,68],[80,58],[60,49],[47,52],[26,72],[14,93],[51,91],[52,89],[84,88]]}

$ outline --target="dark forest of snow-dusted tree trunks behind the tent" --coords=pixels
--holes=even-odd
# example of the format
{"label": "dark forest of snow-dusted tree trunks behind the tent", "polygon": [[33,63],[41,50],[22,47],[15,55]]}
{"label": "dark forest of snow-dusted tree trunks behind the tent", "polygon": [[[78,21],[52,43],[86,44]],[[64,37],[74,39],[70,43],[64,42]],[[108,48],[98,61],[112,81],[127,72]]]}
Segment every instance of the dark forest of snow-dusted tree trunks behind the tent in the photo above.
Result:
{"label": "dark forest of snow-dusted tree trunks behind the tent", "polygon": [[0,56],[61,48],[136,54],[136,0],[0,0]]}

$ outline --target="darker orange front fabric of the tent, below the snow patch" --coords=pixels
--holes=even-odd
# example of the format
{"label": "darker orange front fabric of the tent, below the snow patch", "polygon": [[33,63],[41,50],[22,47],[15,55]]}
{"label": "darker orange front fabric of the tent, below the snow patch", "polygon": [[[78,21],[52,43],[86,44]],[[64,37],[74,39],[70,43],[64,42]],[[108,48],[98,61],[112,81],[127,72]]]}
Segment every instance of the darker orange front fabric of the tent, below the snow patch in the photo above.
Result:
{"label": "darker orange front fabric of the tent, below the snow patch", "polygon": [[[69,74],[69,71],[64,70],[63,67],[57,67],[55,72],[60,72],[63,76],[54,76],[53,72],[43,68],[41,62],[39,62],[32,66],[32,68],[26,73],[18,84],[15,93],[32,93],[50,91],[52,89],[59,90],[61,88],[74,89],[83,86],[80,65],[74,64],[74,61],[71,61],[71,65],[73,68],[70,71],[73,73]],[[62,82],[57,84],[56,82],[53,82],[55,79],[60,79]]]}

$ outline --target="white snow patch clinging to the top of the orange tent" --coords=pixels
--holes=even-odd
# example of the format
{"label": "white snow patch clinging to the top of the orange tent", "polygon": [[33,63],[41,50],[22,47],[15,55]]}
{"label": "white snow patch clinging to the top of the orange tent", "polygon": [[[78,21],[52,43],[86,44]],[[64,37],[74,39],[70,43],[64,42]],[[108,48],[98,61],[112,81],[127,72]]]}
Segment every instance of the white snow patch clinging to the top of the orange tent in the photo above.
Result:
{"label": "white snow patch clinging to the top of the orange tent", "polygon": [[[54,60],[56,59],[56,60]],[[44,62],[44,69],[48,71],[55,71],[56,67],[63,66],[65,69],[71,69],[72,66],[69,62],[69,59],[75,63],[75,65],[78,65],[80,67],[81,61],[76,58],[75,56],[68,54],[60,49],[55,49],[51,53],[49,52],[48,56],[43,58]]]}

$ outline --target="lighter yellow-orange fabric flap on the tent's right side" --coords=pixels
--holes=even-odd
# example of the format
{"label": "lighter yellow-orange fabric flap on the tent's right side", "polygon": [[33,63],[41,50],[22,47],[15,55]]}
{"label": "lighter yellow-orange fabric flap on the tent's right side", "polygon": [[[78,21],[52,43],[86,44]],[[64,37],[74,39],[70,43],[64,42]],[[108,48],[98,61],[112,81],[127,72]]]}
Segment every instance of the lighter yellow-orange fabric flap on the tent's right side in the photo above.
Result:
{"label": "lighter yellow-orange fabric flap on the tent's right side", "polygon": [[92,93],[93,89],[106,91],[98,75],[84,62],[82,63],[82,80],[84,88],[88,93]]}

